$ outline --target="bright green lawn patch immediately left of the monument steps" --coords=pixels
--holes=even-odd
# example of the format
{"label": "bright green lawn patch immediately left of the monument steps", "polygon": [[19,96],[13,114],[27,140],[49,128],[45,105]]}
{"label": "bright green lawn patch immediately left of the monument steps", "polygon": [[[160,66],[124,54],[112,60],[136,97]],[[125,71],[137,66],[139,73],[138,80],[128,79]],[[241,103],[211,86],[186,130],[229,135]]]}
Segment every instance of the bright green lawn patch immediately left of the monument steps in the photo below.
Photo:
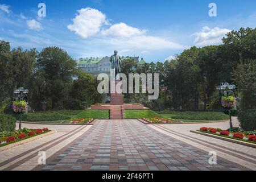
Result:
{"label": "bright green lawn patch immediately left of the monument steps", "polygon": [[77,114],[76,118],[109,119],[109,110],[85,110]]}

